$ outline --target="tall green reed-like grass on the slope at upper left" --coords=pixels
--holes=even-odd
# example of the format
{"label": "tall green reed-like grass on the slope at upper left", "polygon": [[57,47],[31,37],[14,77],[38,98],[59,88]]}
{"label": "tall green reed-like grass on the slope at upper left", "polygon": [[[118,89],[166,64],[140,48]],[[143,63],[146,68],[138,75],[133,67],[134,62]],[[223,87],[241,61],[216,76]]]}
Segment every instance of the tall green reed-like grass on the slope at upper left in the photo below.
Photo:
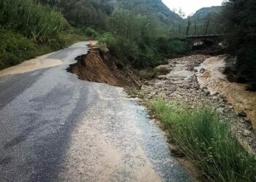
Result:
{"label": "tall green reed-like grass on the slope at upper left", "polygon": [[0,24],[39,43],[58,39],[68,25],[61,12],[33,0],[1,0]]}

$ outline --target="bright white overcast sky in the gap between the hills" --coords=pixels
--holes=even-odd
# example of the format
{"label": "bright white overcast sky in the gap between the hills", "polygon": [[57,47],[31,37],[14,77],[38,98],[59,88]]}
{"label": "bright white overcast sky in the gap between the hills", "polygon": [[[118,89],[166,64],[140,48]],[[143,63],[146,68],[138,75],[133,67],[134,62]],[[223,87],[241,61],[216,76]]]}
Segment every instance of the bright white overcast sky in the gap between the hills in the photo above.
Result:
{"label": "bright white overcast sky in the gap between the hills", "polygon": [[223,0],[162,0],[171,10],[181,7],[186,16],[195,13],[202,7],[219,6],[222,4],[222,1]]}

